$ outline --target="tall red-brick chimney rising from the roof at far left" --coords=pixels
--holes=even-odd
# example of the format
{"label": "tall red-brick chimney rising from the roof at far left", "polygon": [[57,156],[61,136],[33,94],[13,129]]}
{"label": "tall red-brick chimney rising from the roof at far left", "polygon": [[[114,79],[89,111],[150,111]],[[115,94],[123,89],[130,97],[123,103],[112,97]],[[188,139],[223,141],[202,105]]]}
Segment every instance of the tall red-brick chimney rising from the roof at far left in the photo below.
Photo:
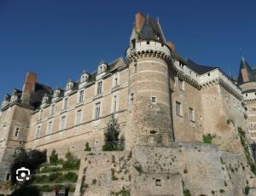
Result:
{"label": "tall red-brick chimney rising from the roof at far left", "polygon": [[35,92],[35,86],[37,82],[37,74],[34,72],[26,73],[26,80],[22,89],[21,103],[29,105],[30,97]]}

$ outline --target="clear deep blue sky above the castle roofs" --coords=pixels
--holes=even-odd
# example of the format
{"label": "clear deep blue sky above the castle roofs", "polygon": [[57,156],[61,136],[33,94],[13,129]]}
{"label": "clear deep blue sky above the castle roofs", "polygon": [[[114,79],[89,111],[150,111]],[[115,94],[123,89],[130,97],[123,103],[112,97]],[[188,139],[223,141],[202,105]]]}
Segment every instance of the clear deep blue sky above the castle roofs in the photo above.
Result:
{"label": "clear deep blue sky above the castle roofs", "polygon": [[26,72],[63,88],[100,61],[125,57],[135,14],[156,18],[177,54],[236,77],[243,55],[256,66],[254,0],[0,0],[0,99]]}

